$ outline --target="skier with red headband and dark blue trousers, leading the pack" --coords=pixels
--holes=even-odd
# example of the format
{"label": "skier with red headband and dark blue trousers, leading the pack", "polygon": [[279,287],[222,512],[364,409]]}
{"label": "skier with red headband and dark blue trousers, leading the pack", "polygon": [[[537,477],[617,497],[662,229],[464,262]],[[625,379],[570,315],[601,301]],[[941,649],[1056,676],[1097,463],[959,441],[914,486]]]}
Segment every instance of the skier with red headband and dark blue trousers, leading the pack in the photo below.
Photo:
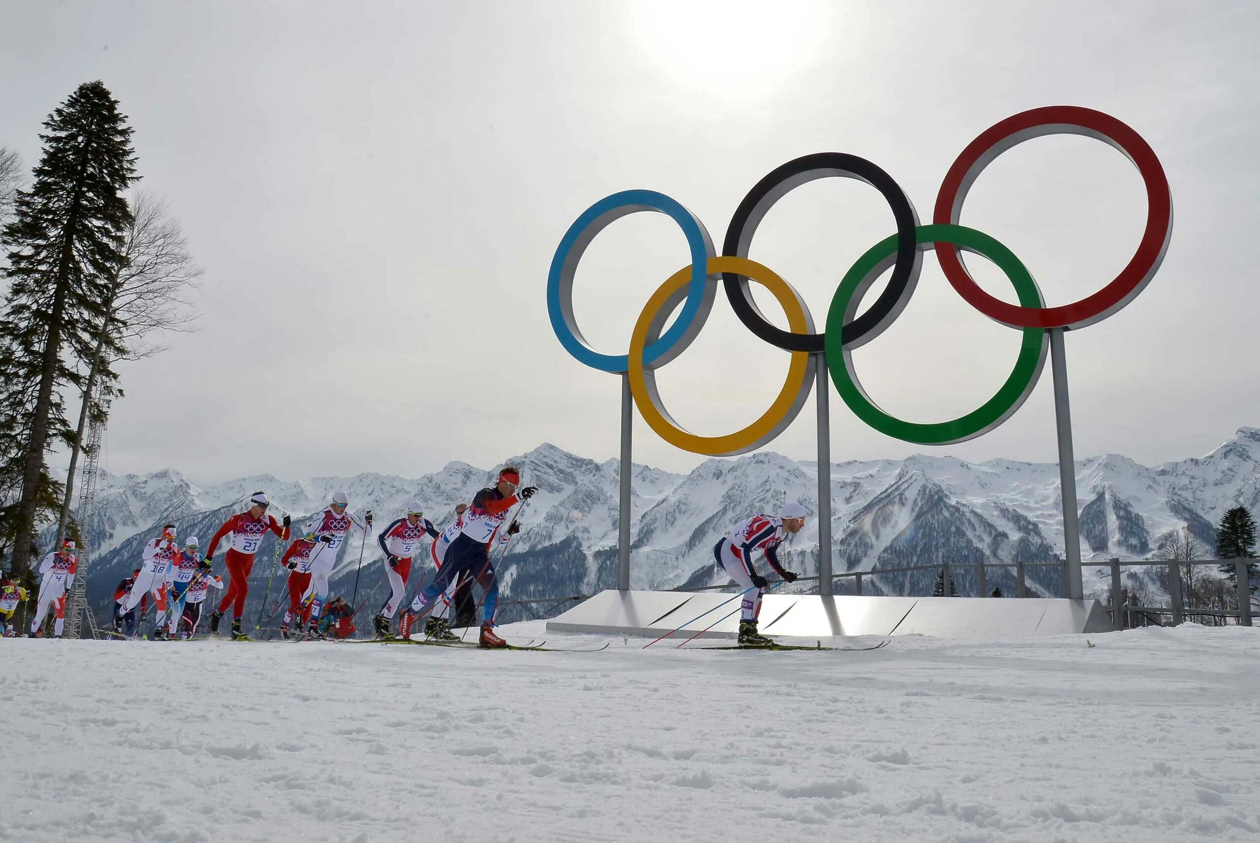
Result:
{"label": "skier with red headband and dark blue trousers, leading the pack", "polygon": [[464,513],[464,527],[460,534],[451,542],[451,547],[446,552],[446,565],[428,583],[428,587],[416,595],[411,604],[411,611],[403,617],[403,638],[411,634],[416,619],[433,606],[437,595],[446,591],[446,587],[456,581],[460,573],[467,571],[485,590],[479,643],[481,646],[508,645],[494,633],[494,610],[499,602],[499,582],[494,576],[494,566],[490,565],[488,544],[508,517],[508,510],[519,500],[529,500],[538,491],[536,486],[525,486],[517,491],[519,485],[520,469],[507,465],[499,471],[499,481],[495,485],[476,493],[472,498],[472,505]]}

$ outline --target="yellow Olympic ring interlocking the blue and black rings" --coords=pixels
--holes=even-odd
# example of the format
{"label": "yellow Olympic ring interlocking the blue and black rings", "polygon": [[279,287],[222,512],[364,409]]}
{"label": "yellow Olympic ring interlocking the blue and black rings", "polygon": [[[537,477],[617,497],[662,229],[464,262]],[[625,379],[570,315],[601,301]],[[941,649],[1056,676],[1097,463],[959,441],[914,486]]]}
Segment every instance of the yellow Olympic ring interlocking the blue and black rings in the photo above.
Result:
{"label": "yellow Olympic ring interlocking the blue and black rings", "polygon": [[[775,275],[769,267],[750,261],[746,257],[711,257],[708,260],[708,275],[716,277],[721,272],[735,272],[756,281],[779,300],[779,305],[788,314],[788,326],[793,334],[813,334],[814,321],[805,307],[805,302],[793,290],[791,285]],[[687,296],[688,284],[692,277],[692,266],[688,265],[669,276],[660,287],[648,299],[639,321],[635,323],[634,334],[630,335],[630,392],[639,406],[639,413],[648,426],[656,431],[663,440],[693,454],[707,456],[733,456],[745,454],[762,445],[769,444],[775,436],[781,433],[796,418],[800,408],[809,397],[809,391],[814,383],[814,357],[808,352],[793,352],[791,364],[788,367],[788,379],[784,381],[779,397],[770,404],[757,421],[743,430],[738,430],[726,436],[697,436],[690,433],[670,417],[660,401],[656,391],[656,373],[653,368],[644,368],[643,349],[655,343],[660,333],[674,313],[678,304]]]}

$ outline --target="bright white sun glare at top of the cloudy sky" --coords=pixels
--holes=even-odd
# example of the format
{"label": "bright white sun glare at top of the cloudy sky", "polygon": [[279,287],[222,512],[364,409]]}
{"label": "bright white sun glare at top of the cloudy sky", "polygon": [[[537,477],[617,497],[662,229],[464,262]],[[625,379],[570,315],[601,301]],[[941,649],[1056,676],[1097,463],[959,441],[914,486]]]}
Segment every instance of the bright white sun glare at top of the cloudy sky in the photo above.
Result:
{"label": "bright white sun glare at top of the cloudy sky", "polygon": [[727,100],[762,96],[822,44],[819,0],[638,0],[634,33],[679,84]]}

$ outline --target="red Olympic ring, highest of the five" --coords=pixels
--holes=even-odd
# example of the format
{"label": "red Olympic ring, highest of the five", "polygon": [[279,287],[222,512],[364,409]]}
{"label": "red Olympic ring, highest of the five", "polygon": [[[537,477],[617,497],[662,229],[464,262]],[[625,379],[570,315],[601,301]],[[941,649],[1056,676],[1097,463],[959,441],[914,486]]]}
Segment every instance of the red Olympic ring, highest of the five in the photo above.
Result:
{"label": "red Olympic ring, highest of the five", "polygon": [[936,258],[958,294],[994,321],[1012,328],[1085,328],[1102,321],[1142,292],[1159,270],[1172,237],[1173,202],[1164,168],[1133,129],[1101,111],[1079,106],[1047,106],[1007,117],[971,141],[950,166],[936,194],[932,222],[959,224],[963,200],[984,168],[1012,146],[1045,135],[1094,137],[1115,147],[1138,168],[1147,185],[1147,229],[1120,275],[1097,292],[1070,305],[1022,307],[982,290],[968,275],[953,243],[936,243]]}

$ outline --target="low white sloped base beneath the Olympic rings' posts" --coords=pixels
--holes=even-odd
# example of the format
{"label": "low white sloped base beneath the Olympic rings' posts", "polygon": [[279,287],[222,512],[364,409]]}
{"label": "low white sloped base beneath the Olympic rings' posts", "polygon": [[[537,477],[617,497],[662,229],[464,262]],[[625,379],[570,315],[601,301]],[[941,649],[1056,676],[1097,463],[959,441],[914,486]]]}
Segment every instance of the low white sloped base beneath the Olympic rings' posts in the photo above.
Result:
{"label": "low white sloped base beneath the Olympic rings' posts", "polygon": [[[682,591],[601,591],[547,622],[558,633],[616,633],[656,638],[735,638],[740,599],[730,594]],[[726,605],[722,605],[724,601]],[[718,607],[721,606],[721,607]],[[708,611],[708,610],[713,611]],[[708,611],[708,614],[702,615]],[[730,614],[728,617],[723,615]],[[698,617],[699,616],[699,617]],[[719,620],[721,619],[721,620]],[[1032,638],[1105,633],[1106,610],[1096,600],[1045,597],[819,597],[766,595],[760,631],[765,635],[934,635],[939,638]]]}

